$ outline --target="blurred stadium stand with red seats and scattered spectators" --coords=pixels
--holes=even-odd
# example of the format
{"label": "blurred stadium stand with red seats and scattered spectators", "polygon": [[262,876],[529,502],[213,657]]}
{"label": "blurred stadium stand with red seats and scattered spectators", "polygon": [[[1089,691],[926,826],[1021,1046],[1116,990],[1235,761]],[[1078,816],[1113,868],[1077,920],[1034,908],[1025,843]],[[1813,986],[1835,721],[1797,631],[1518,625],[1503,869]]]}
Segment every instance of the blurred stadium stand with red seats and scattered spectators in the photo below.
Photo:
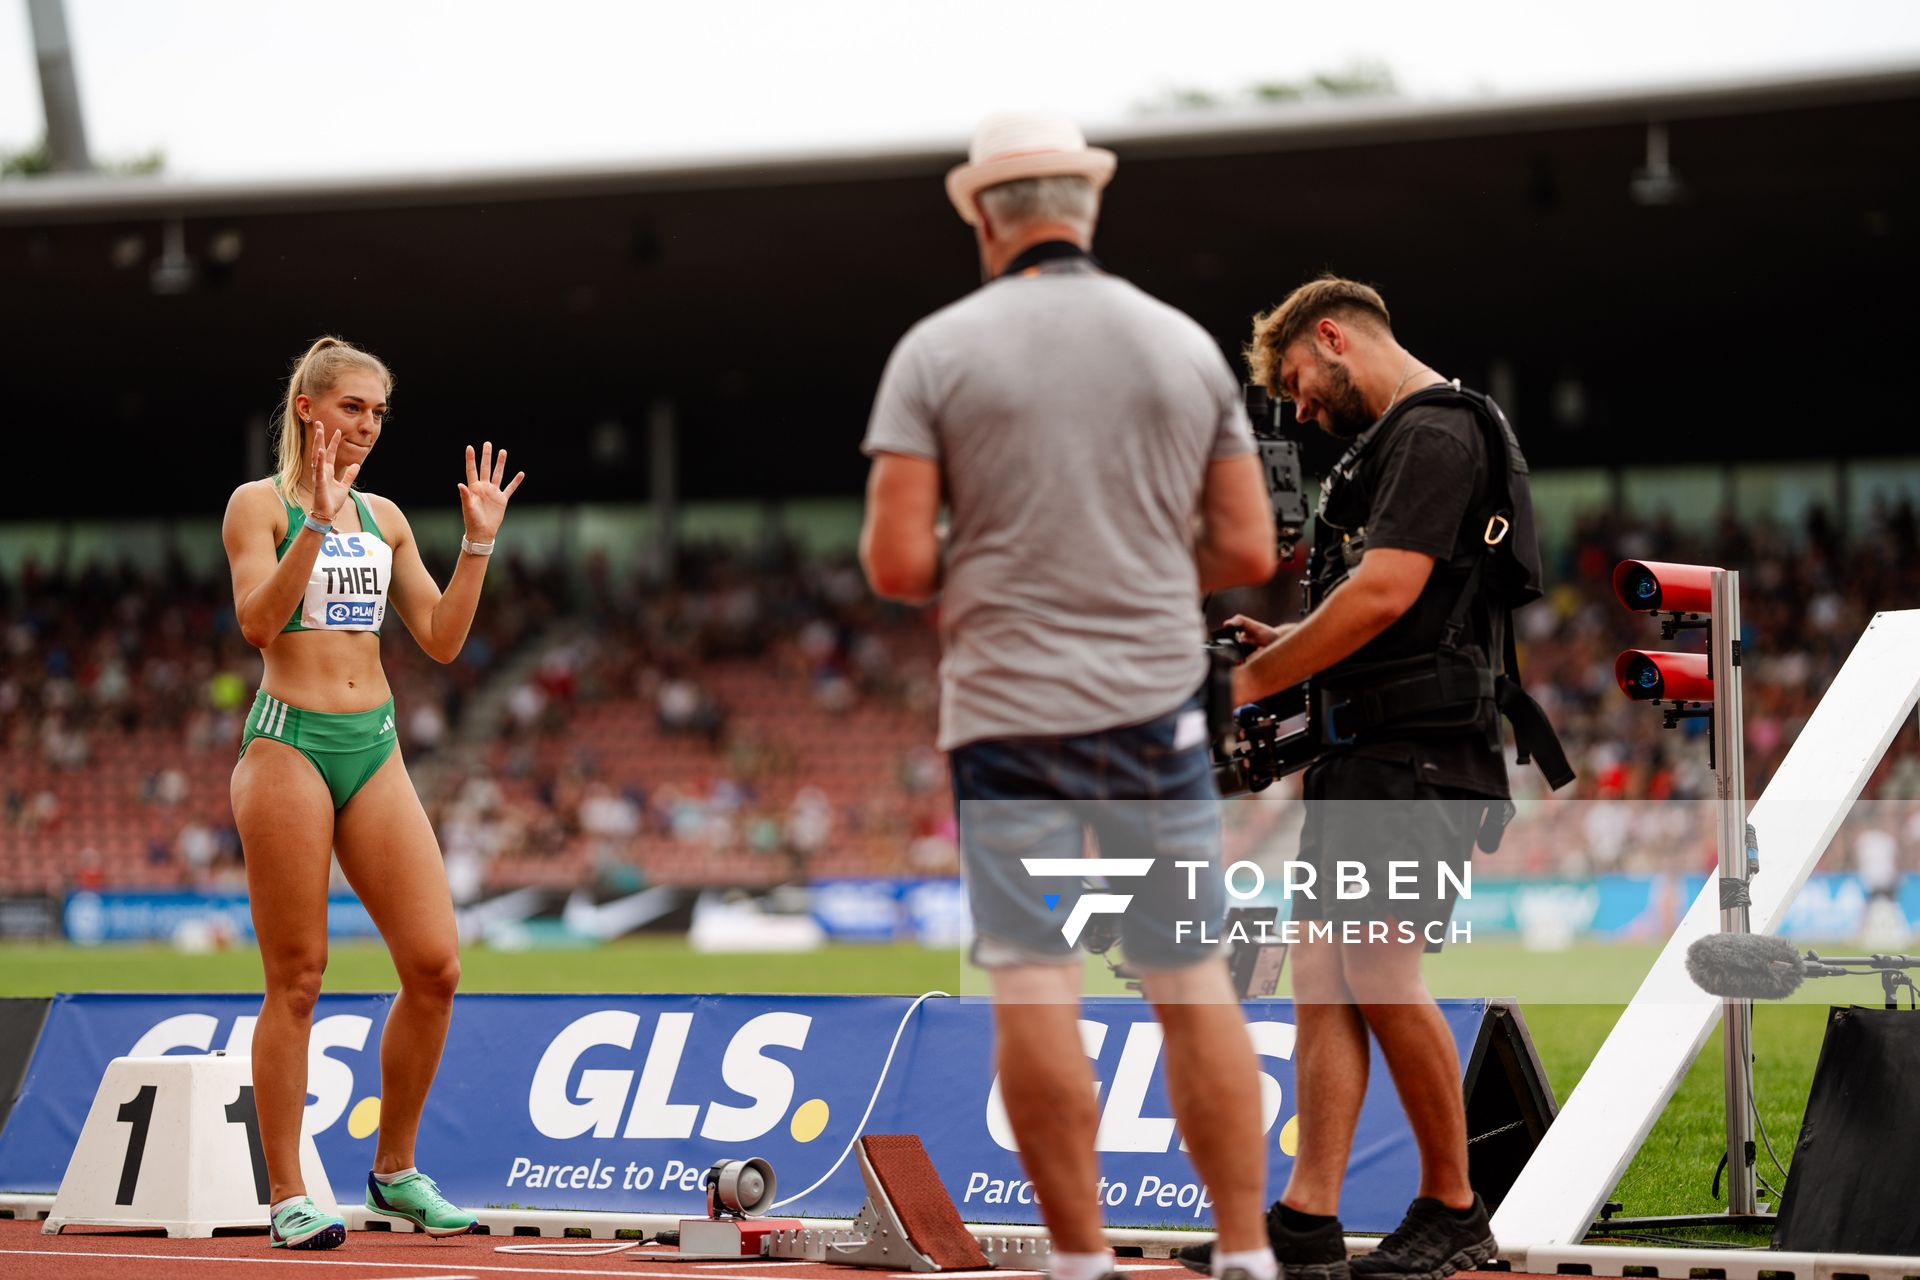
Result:
{"label": "blurred stadium stand with red seats and scattered spectators", "polygon": [[[1880,505],[1862,528],[1847,537],[1822,510],[1803,528],[1726,520],[1705,537],[1578,522],[1555,555],[1559,585],[1521,614],[1526,683],[1580,770],[1572,798],[1711,796],[1697,725],[1661,731],[1613,689],[1615,654],[1653,643],[1611,597],[1619,558],[1741,568],[1759,794],[1874,610],[1920,599],[1912,503]],[[597,562],[572,580],[503,568],[455,664],[430,662],[403,628],[384,647],[401,739],[463,900],[520,885],[956,869],[931,748],[931,612],[879,604],[845,557],[785,543],[687,547],[664,580]],[[1284,618],[1294,581],[1283,574],[1213,612]],[[257,679],[223,578],[173,562],[152,574],[29,564],[0,580],[0,892],[238,883],[227,783]],[[1544,794],[1532,770],[1513,781],[1523,806]],[[1914,733],[1866,798],[1901,802],[1901,860],[1920,869]],[[1275,806],[1254,808],[1265,814],[1254,827],[1277,821]],[[1519,827],[1498,871],[1707,867],[1711,829],[1663,833],[1670,808],[1567,806]],[[1887,821],[1889,808],[1876,810]]]}

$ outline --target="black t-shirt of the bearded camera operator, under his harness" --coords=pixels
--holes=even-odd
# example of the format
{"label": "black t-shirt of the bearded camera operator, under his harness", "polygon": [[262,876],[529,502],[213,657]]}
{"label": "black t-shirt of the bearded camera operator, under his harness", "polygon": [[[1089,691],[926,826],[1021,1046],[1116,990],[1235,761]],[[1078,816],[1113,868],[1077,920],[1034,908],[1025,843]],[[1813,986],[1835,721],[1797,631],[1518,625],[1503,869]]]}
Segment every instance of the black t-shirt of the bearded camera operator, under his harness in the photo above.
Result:
{"label": "black t-shirt of the bearded camera operator, under his harness", "polygon": [[[1434,557],[1434,572],[1405,614],[1332,672],[1430,654],[1440,647],[1453,603],[1467,585],[1475,560],[1486,555],[1480,528],[1486,468],[1486,438],[1465,405],[1413,405],[1361,455],[1354,478],[1340,486],[1329,518],[1363,535],[1369,551],[1392,547]],[[1329,553],[1338,555],[1336,549]],[[1467,616],[1463,643],[1478,645],[1484,658],[1498,660],[1486,606],[1476,604]],[[1480,731],[1375,739],[1338,750],[1369,760],[1405,762],[1421,783],[1486,796],[1507,794],[1505,760],[1488,747]]]}

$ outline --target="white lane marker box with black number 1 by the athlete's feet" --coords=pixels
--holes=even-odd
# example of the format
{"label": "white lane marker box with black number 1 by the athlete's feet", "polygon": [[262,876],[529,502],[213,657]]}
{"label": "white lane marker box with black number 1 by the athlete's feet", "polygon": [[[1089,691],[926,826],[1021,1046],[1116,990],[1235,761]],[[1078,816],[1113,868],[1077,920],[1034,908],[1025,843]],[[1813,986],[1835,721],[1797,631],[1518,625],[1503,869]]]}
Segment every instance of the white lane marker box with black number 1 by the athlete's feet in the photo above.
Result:
{"label": "white lane marker box with black number 1 by the athlete's feet", "polygon": [[[300,1173],[323,1213],[338,1213],[313,1136]],[[148,1226],[211,1236],[267,1226],[267,1155],[253,1063],[227,1054],[115,1057],[40,1228]]]}

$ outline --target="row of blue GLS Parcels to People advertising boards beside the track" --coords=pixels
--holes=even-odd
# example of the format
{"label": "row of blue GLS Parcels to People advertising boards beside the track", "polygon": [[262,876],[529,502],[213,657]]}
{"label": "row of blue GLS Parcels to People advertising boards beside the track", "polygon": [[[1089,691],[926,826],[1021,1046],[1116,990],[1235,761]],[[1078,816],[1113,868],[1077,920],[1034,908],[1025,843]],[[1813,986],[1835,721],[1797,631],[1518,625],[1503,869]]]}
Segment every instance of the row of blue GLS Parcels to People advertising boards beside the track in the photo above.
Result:
{"label": "row of blue GLS Parcels to People advertising boards beside the track", "polygon": [[[323,996],[315,1011],[307,1126],[349,1201],[372,1161],[390,1004]],[[1037,1222],[993,1071],[991,1006],[937,998],[908,1017],[912,1006],[895,996],[459,996],[420,1123],[420,1165],[470,1207],[701,1213],[712,1161],[760,1155],[778,1173],[783,1211],[847,1219],[866,1196],[852,1140],[910,1132],[962,1217]],[[0,1190],[58,1190],[108,1061],[242,1054],[257,1009],[255,996],[60,996],[0,1132]],[[1442,1013],[1465,1063],[1486,1002],[1448,1000]],[[1292,1006],[1252,1002],[1246,1015],[1271,1199],[1296,1132]],[[1152,1009],[1089,1000],[1079,1031],[1100,1102],[1108,1224],[1210,1224],[1210,1199],[1179,1150]],[[1390,1230],[1417,1176],[1413,1136],[1375,1057],[1342,1219]]]}

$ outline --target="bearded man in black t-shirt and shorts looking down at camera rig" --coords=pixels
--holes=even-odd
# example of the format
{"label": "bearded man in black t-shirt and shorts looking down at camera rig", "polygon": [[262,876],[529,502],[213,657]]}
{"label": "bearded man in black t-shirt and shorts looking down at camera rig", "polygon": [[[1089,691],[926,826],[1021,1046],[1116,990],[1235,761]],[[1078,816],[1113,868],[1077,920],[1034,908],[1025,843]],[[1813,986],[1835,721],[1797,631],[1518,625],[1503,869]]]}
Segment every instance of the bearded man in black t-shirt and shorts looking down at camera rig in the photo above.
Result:
{"label": "bearded man in black t-shirt and shorts looking down at camera rig", "polygon": [[[1519,447],[1492,401],[1402,347],[1365,284],[1302,284],[1256,317],[1246,355],[1254,382],[1292,401],[1300,422],[1350,443],[1321,495],[1306,620],[1231,620],[1260,647],[1233,672],[1235,702],[1309,681],[1319,725],[1300,839],[1315,896],[1292,896],[1300,1148],[1269,1224],[1281,1257],[1309,1251],[1306,1240],[1340,1240],[1371,1031],[1419,1146],[1421,1182],[1400,1228],[1352,1270],[1440,1280],[1492,1257],[1494,1236],[1467,1180],[1459,1061],[1421,956],[1438,948],[1453,908],[1438,864],[1463,879],[1475,842],[1498,848],[1511,812],[1500,754],[1509,695],[1494,670],[1507,610],[1490,562],[1536,557],[1500,547],[1515,528],[1515,541],[1532,539],[1524,462],[1513,466]],[[1365,894],[1336,894],[1338,860],[1363,865]],[[1417,864],[1411,900],[1388,898],[1388,860]],[[1311,921],[1325,921],[1321,936]]]}

